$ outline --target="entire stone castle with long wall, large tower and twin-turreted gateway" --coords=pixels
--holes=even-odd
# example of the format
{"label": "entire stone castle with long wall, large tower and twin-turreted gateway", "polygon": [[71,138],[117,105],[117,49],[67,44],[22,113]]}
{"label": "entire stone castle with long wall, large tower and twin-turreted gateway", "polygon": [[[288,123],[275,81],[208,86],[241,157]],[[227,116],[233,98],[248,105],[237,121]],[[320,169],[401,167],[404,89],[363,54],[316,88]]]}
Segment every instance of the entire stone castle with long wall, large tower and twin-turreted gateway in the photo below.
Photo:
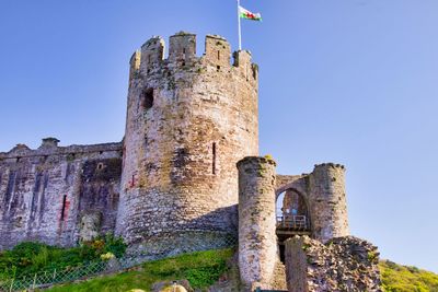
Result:
{"label": "entire stone castle with long wall, large tower and twin-turreted gateway", "polygon": [[[231,61],[232,59],[232,61]],[[152,37],[130,59],[122,142],[0,153],[0,248],[72,246],[114,232],[132,250],[174,255],[239,238],[242,281],[265,283],[285,242],[347,236],[342,165],[277,175],[258,156],[258,67],[208,35]],[[263,265],[261,265],[261,262]]]}

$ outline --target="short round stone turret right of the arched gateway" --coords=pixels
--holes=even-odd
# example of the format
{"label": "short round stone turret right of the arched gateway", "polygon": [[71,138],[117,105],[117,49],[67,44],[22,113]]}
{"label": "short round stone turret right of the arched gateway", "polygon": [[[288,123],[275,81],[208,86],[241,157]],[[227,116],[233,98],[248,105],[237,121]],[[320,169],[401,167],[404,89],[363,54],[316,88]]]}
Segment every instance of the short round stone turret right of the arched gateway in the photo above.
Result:
{"label": "short round stone turret right of the arched gateway", "polygon": [[349,235],[345,167],[333,163],[315,165],[309,176],[309,188],[313,237],[326,242]]}

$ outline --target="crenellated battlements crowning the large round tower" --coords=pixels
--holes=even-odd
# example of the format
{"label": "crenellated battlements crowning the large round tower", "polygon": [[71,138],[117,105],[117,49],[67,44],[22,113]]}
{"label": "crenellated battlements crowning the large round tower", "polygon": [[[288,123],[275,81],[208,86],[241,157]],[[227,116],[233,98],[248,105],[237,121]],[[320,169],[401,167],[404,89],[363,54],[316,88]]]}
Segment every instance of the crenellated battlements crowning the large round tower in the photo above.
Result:
{"label": "crenellated battlements crowning the large round tower", "polygon": [[252,84],[257,80],[258,67],[252,62],[251,52],[239,50],[231,54],[230,44],[219,35],[205,37],[205,51],[199,57],[196,52],[196,35],[185,32],[170,37],[168,58],[164,51],[165,42],[162,37],[153,36],[147,40],[130,59],[129,83],[134,79],[153,78],[155,74],[169,77],[176,71],[240,73]]}

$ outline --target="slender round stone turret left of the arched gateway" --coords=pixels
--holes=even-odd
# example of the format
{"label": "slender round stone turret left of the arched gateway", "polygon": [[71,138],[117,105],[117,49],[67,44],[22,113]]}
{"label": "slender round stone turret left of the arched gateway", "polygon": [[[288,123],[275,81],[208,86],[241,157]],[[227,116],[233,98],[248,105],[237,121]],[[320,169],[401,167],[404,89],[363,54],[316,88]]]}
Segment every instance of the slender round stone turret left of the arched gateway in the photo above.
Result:
{"label": "slender round stone turret left of the arched gateway", "polygon": [[239,269],[242,283],[272,288],[279,260],[275,233],[275,162],[245,157],[239,168]]}

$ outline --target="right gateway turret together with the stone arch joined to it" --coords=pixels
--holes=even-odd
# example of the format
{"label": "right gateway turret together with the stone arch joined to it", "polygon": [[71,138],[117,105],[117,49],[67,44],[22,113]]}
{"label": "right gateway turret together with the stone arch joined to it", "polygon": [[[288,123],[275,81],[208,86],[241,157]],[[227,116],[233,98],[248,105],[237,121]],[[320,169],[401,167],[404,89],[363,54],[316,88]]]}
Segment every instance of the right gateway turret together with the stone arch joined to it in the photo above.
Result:
{"label": "right gateway turret together with the stone arch joined to it", "polygon": [[349,235],[343,165],[324,163],[310,174],[277,175],[277,198],[284,191],[293,191],[306,202],[312,238],[326,242]]}

